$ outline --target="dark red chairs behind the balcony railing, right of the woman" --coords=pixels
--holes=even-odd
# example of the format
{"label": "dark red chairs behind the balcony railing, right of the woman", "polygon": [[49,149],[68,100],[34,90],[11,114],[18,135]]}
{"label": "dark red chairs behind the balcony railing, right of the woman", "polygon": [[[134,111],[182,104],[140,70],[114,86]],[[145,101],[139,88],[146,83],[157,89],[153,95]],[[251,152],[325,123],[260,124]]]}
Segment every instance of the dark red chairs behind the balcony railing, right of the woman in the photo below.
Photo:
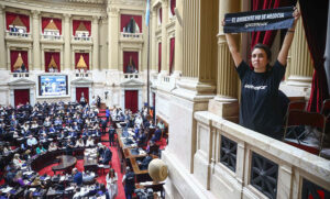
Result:
{"label": "dark red chairs behind the balcony railing, right of the woman", "polygon": [[286,113],[284,141],[330,159],[330,99],[320,113],[307,112],[305,101],[292,101]]}

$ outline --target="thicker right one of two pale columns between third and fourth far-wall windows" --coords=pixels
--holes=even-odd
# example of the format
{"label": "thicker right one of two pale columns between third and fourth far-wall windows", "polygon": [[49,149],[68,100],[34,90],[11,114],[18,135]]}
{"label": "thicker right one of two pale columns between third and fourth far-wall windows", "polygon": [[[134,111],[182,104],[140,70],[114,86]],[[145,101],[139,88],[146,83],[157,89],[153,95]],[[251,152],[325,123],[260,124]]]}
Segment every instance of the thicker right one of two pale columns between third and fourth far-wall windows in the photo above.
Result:
{"label": "thicker right one of two pale columns between third and fourth far-wall windows", "polygon": [[119,34],[119,20],[118,20],[118,9],[108,8],[108,68],[109,69],[119,69],[122,71],[122,68],[119,68],[118,63],[118,34]]}

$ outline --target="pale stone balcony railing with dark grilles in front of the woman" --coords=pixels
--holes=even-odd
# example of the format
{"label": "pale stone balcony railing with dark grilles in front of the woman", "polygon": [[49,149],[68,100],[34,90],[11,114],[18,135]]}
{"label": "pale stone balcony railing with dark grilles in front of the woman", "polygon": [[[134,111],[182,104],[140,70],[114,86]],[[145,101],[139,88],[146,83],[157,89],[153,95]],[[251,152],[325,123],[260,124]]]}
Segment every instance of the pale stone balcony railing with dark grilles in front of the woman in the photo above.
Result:
{"label": "pale stone balcony railing with dark grilles in front of the woman", "polygon": [[209,111],[198,111],[194,118],[199,139],[193,175],[217,198],[222,194],[227,198],[329,197],[328,159]]}

